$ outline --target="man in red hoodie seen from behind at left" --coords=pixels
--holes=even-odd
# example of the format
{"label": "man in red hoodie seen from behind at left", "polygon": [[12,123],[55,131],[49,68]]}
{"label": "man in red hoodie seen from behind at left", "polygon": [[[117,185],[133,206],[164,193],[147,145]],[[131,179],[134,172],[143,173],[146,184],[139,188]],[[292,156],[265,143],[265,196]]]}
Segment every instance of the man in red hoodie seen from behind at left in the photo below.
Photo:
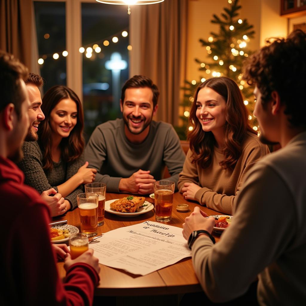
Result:
{"label": "man in red hoodie seen from behind at left", "polygon": [[[24,80],[28,71],[12,55],[0,51],[0,195],[2,211],[1,304],[90,305],[99,282],[93,250],[65,258],[66,278],[58,276],[50,244],[50,211],[39,194],[23,184],[14,164],[22,158],[30,106]],[[14,161],[14,162],[13,162]]]}

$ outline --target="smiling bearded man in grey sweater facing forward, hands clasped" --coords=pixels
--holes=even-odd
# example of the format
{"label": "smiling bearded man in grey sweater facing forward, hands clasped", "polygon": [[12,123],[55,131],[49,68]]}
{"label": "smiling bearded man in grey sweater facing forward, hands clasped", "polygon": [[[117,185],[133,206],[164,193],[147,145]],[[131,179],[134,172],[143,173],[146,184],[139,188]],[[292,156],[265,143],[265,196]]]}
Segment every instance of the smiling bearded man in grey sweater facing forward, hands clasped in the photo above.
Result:
{"label": "smiling bearded man in grey sweater facing forward, hands clasped", "polygon": [[152,80],[133,76],[122,88],[123,119],[98,125],[85,149],[88,167],[97,169],[96,182],[109,192],[149,194],[162,179],[165,166],[177,190],[178,175],[185,161],[172,125],[156,122],[159,91]]}

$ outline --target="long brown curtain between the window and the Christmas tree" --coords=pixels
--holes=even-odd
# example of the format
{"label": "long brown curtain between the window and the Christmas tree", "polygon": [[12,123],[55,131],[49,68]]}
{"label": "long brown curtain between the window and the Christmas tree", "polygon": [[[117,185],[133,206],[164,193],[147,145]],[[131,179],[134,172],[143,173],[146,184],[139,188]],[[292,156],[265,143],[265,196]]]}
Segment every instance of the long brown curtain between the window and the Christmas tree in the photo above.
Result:
{"label": "long brown curtain between the window and the Christmas tree", "polygon": [[155,119],[177,125],[186,70],[188,0],[142,5],[133,13],[140,14],[138,73],[150,77],[160,91]]}

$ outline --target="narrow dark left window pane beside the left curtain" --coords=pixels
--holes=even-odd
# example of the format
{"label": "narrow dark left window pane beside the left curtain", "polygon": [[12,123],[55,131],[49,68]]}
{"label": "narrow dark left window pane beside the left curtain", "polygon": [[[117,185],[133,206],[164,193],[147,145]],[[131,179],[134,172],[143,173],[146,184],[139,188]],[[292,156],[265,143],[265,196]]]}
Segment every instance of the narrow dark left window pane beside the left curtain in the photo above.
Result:
{"label": "narrow dark left window pane beside the left curtain", "polygon": [[[34,2],[40,74],[46,80],[44,92],[54,85],[66,85],[65,2]],[[58,59],[53,54],[58,53]]]}

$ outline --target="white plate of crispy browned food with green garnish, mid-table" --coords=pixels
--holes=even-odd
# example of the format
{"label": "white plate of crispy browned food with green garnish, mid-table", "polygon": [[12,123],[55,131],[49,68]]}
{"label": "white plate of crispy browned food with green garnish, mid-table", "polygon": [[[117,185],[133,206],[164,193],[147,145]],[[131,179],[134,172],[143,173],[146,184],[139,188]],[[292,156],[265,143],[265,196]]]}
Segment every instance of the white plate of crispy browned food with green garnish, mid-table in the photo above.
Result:
{"label": "white plate of crispy browned food with green garnish, mid-table", "polygon": [[142,215],[153,208],[153,204],[145,201],[143,196],[127,196],[105,202],[105,211],[122,217]]}

